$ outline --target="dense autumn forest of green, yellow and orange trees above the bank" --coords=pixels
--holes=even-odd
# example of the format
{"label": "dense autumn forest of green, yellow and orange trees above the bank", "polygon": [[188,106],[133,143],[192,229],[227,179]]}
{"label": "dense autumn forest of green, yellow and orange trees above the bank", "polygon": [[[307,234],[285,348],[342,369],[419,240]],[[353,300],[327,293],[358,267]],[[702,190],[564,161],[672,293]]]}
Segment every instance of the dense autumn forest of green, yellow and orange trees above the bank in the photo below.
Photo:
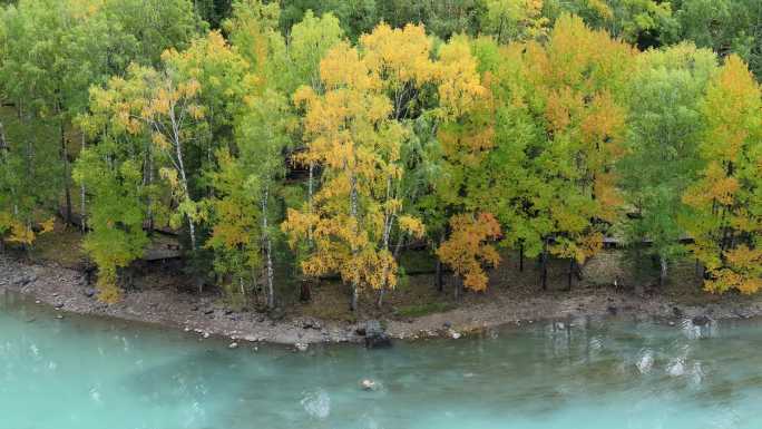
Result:
{"label": "dense autumn forest of green, yellow and orange trees above the bank", "polygon": [[199,287],[356,309],[410,248],[465,293],[615,238],[755,293],[760,77],[759,0],[0,1],[0,250],[63,222],[116,302],[172,233]]}

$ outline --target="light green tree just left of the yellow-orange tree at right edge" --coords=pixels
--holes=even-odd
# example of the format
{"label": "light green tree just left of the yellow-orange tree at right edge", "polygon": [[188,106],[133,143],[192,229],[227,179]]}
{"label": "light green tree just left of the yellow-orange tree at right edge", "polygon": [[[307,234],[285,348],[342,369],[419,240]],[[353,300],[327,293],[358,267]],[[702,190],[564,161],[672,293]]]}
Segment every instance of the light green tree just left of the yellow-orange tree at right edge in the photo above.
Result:
{"label": "light green tree just left of the yellow-orange tree at right edge", "polygon": [[661,265],[660,284],[671,261],[685,251],[681,196],[696,179],[702,117],[698,103],[716,69],[716,57],[692,45],[649,51],[638,58],[629,81],[627,155],[618,165],[621,187],[636,217],[625,224],[635,246],[651,242]]}

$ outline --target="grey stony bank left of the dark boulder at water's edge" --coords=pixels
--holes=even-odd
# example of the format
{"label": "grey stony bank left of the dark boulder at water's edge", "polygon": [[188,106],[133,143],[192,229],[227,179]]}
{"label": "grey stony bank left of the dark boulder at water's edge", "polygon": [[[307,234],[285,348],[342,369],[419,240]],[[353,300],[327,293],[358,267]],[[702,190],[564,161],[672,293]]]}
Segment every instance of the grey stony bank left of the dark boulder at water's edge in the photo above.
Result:
{"label": "grey stony bank left of the dark boulder at water's edge", "polygon": [[107,315],[223,335],[234,340],[275,343],[346,342],[358,340],[353,326],[316,320],[274,321],[256,312],[234,312],[215,294],[192,294],[167,287],[126,291],[116,304],[97,300],[85,273],[60,266],[26,264],[0,256],[0,291],[19,292],[62,312]]}

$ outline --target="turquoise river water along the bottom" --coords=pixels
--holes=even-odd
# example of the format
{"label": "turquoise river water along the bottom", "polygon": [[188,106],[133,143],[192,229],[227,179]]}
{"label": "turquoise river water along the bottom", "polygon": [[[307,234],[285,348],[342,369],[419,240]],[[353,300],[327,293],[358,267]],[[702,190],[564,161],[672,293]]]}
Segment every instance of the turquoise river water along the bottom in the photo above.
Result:
{"label": "turquoise river water along the bottom", "polygon": [[759,429],[761,363],[761,321],[576,320],[300,354],[0,294],[1,429]]}

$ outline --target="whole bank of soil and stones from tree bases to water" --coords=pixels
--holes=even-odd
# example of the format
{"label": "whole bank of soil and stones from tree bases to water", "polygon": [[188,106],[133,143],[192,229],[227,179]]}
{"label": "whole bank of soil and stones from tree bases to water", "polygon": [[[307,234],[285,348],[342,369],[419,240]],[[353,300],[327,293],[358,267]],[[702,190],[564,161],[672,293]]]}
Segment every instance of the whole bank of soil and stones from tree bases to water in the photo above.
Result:
{"label": "whole bank of soil and stones from tree bases to water", "polygon": [[438,291],[434,260],[427,252],[409,252],[401,271],[410,274],[402,275],[398,287],[387,293],[380,309],[374,294],[363,295],[356,313],[349,310],[348,287],[336,281],[313,284],[312,299],[306,303],[299,301],[297,282],[280,283],[277,295],[283,310],[264,312],[253,299],[234,303],[216,287],[206,287],[199,294],[197,279],[186,274],[177,260],[144,262],[131,271],[130,287],[121,302],[106,305],[91,296],[80,238],[79,232],[59,226],[55,233],[40,236],[30,252],[9,250],[0,257],[0,290],[21,292],[62,311],[291,344],[359,341],[355,328],[369,319],[383,320],[392,337],[417,339],[540,319],[606,314],[665,320],[762,315],[760,295],[704,292],[692,260],[673,264],[670,280],[660,286],[657,267],[623,250],[607,250],[589,260],[582,270],[583,280],[575,277],[570,290],[568,262],[551,261],[545,291],[539,286],[536,262],[525,259],[520,271],[518,256],[506,252],[500,266],[490,271],[488,290],[467,292],[460,299],[455,298],[451,274],[446,273],[443,291]]}

